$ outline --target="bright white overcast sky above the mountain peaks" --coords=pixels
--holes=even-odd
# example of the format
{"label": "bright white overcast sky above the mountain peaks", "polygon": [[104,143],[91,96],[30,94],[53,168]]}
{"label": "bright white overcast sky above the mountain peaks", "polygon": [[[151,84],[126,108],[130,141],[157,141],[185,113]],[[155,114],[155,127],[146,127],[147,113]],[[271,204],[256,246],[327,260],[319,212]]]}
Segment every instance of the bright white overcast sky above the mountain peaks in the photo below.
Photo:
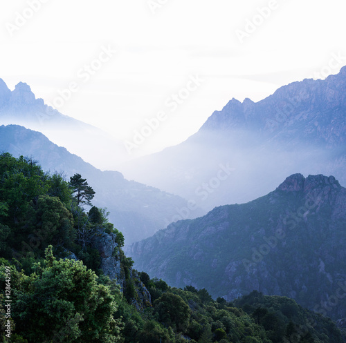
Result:
{"label": "bright white overcast sky above the mountain peaks", "polygon": [[[259,8],[269,5],[262,20]],[[9,24],[18,13],[33,16],[17,29]],[[336,74],[346,65],[345,13],[345,0],[1,0],[0,77],[10,89],[26,82],[49,103],[74,81],[78,91],[60,112],[129,141],[165,112],[139,148],[149,153],[185,140],[233,97],[258,101],[314,72]],[[236,30],[256,15],[241,43]],[[80,70],[108,46],[118,52],[95,62],[100,70],[86,81]],[[171,111],[165,101],[192,75],[203,83]]]}

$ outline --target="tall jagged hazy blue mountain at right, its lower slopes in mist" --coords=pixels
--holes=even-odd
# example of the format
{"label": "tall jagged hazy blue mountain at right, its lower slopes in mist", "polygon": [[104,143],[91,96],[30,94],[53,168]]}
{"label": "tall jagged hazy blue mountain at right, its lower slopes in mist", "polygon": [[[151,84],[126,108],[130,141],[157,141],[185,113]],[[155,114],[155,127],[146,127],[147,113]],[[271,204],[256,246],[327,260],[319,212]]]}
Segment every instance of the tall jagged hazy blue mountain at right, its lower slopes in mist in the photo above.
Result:
{"label": "tall jagged hazy blue mountain at right, its lower slopes in mist", "polygon": [[257,103],[232,99],[183,143],[119,170],[211,210],[265,195],[297,170],[346,185],[345,168],[346,67]]}

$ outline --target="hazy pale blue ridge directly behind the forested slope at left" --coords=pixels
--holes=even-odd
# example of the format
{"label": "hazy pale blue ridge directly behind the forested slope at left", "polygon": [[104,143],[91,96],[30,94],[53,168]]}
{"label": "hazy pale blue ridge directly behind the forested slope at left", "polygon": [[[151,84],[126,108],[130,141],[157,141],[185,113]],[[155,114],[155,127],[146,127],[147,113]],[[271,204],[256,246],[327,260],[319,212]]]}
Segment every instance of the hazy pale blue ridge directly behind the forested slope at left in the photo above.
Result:
{"label": "hazy pale blue ridge directly behind the forested slope at left", "polygon": [[93,204],[108,208],[109,219],[124,233],[126,244],[153,235],[179,217],[180,211],[186,214],[188,210],[189,217],[203,213],[181,197],[128,181],[116,171],[101,171],[53,144],[42,133],[21,126],[0,126],[0,151],[15,157],[32,156],[44,170],[63,172],[67,179],[81,174],[96,192]]}

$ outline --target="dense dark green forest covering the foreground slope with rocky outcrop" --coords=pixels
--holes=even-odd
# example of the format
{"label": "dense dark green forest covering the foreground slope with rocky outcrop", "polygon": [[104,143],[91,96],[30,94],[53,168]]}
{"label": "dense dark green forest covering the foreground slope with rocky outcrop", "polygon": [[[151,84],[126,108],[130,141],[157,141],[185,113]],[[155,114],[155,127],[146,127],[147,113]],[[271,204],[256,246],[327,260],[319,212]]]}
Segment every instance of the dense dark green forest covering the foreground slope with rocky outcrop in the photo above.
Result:
{"label": "dense dark green forest covering the foreground slope with rocky outcrop", "polygon": [[[230,303],[150,280],[132,268],[93,195],[82,175],[67,181],[32,158],[0,155],[3,342],[345,342],[329,318],[288,297],[254,291]],[[104,268],[100,237],[115,242],[116,277]]]}

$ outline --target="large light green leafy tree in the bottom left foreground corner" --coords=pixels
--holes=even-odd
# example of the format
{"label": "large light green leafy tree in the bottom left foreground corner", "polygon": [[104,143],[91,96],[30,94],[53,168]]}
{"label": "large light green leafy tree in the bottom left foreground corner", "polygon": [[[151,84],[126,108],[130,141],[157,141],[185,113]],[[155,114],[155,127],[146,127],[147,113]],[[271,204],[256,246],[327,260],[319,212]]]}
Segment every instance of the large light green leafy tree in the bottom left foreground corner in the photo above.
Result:
{"label": "large light green leafy tree in the bottom left foreground corner", "polygon": [[31,342],[120,342],[120,320],[109,287],[80,261],[57,260],[46,249],[46,266],[35,265],[13,314],[18,333]]}

